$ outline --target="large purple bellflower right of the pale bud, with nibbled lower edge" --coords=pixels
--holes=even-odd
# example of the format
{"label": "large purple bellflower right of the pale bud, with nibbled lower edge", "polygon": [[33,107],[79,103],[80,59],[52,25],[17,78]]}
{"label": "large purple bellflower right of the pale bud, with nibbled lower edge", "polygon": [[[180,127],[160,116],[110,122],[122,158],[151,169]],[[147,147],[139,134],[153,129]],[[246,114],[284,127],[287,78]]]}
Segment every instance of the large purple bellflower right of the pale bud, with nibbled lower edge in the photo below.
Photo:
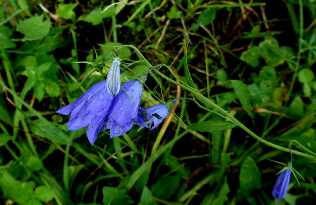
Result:
{"label": "large purple bellflower right of the pale bud, with nibbled lower edge", "polygon": [[[122,84],[119,94],[114,97],[112,107],[103,129],[110,129],[110,137],[116,137],[129,131],[137,117],[143,87],[138,80]],[[126,93],[125,93],[126,92]]]}

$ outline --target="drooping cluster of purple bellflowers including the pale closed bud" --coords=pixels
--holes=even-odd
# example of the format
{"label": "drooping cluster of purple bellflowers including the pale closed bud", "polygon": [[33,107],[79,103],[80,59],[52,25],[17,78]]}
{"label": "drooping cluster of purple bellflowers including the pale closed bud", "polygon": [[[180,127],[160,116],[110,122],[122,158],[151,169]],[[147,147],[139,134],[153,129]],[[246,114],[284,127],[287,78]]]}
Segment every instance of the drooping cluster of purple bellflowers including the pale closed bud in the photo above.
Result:
{"label": "drooping cluster of purple bellflowers including the pale closed bud", "polygon": [[[120,60],[114,59],[107,80],[95,84],[75,102],[57,110],[59,114],[71,113],[68,130],[88,126],[87,137],[92,145],[101,130],[110,129],[112,138],[128,132],[135,121],[139,126],[154,129],[162,119],[167,118],[168,108],[164,104],[143,110],[139,108],[142,84],[146,81],[148,72],[120,85],[119,65]],[[145,118],[137,120],[138,113],[142,112],[145,113]]]}

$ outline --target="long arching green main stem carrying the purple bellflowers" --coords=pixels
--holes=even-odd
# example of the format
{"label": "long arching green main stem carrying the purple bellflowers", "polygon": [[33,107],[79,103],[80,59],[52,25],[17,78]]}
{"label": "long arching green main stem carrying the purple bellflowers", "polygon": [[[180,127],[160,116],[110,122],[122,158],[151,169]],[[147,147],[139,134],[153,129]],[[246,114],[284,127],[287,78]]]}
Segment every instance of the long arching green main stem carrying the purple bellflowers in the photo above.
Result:
{"label": "long arching green main stem carrying the purple bellflowers", "polygon": [[[301,1],[301,0],[300,0]],[[151,67],[153,67],[147,60],[146,58],[141,54],[141,52],[133,45],[124,45],[124,46],[120,46],[118,47],[117,50],[123,48],[123,47],[130,47],[133,50],[135,50],[135,52],[138,54],[139,57],[141,57],[144,61],[146,61]],[[162,78],[172,82],[175,85],[179,85],[180,87],[182,87],[183,89],[191,92],[191,94],[195,97],[197,97],[197,99],[199,99],[200,101],[203,101],[207,104],[209,104],[210,106],[216,108],[220,113],[222,113],[227,119],[229,119],[231,122],[235,123],[236,125],[240,126],[243,130],[245,130],[248,134],[250,134],[253,138],[255,138],[256,140],[258,140],[261,143],[264,143],[270,147],[273,147],[275,149],[279,149],[285,152],[290,152],[289,148],[286,147],[282,147],[279,145],[276,145],[274,143],[268,142],[262,138],[260,138],[258,135],[256,135],[254,132],[252,132],[250,129],[248,129],[245,125],[243,125],[240,121],[238,121],[236,118],[234,118],[233,116],[231,116],[230,114],[228,114],[223,108],[221,108],[220,106],[218,106],[216,103],[213,103],[210,99],[208,99],[207,97],[205,97],[204,95],[202,95],[201,93],[199,93],[197,90],[195,90],[194,88],[190,87],[189,85],[186,85],[183,81],[181,81],[181,79],[179,79],[172,71],[171,67],[167,66],[166,64],[161,64],[165,67],[167,67],[167,69],[170,71],[170,73],[179,80],[179,83],[173,79],[168,78],[167,76],[165,76],[164,74],[162,74],[159,71],[155,71],[158,75],[160,75]],[[156,139],[156,141],[159,140],[158,138]],[[156,143],[156,142],[155,142]],[[313,159],[316,160],[315,156],[300,152],[300,151],[296,151],[296,150],[291,150],[293,154],[295,155],[299,155],[302,157],[306,157],[309,159]]]}

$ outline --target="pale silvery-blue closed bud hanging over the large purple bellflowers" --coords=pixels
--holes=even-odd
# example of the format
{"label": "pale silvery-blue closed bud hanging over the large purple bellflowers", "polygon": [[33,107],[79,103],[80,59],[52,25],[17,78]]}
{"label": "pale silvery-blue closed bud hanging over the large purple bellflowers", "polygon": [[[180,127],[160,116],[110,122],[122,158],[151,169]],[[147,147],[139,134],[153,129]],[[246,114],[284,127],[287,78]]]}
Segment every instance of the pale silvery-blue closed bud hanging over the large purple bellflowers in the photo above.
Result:
{"label": "pale silvery-blue closed bud hanging over the large purple bellflowers", "polygon": [[106,77],[106,90],[111,96],[116,96],[121,88],[121,59],[114,58]]}

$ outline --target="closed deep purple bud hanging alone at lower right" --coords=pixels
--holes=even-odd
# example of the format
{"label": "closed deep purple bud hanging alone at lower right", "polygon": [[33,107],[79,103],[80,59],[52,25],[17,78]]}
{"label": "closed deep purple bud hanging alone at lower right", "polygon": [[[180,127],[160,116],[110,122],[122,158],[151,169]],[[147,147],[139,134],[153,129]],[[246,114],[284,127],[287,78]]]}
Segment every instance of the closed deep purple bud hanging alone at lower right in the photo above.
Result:
{"label": "closed deep purple bud hanging alone at lower right", "polygon": [[291,169],[285,169],[283,172],[281,172],[281,174],[276,179],[276,184],[272,190],[273,197],[277,199],[283,199],[289,187],[291,173]]}

